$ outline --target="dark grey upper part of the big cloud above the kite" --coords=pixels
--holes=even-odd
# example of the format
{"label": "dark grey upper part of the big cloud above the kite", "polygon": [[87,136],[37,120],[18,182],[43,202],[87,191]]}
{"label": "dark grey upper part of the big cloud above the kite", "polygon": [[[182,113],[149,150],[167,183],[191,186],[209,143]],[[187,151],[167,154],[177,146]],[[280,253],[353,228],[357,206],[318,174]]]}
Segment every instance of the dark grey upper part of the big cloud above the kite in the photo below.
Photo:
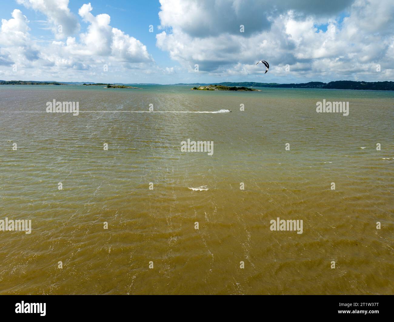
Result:
{"label": "dark grey upper part of the big cloud above the kite", "polygon": [[170,27],[193,37],[207,37],[222,33],[239,34],[268,30],[273,18],[289,10],[299,16],[329,17],[345,9],[353,0],[160,0],[161,27]]}

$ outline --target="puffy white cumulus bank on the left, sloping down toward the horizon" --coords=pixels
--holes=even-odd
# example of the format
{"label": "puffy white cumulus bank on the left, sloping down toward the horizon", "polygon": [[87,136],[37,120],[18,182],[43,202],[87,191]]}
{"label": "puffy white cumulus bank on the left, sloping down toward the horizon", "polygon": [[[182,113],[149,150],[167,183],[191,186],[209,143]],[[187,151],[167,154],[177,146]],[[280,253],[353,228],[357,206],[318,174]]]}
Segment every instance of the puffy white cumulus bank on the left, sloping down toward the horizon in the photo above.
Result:
{"label": "puffy white cumulus bank on the left, sloping down toward the horizon", "polygon": [[[48,14],[51,10],[69,13],[68,1],[62,0],[56,4],[53,2],[52,6],[45,0],[19,1]],[[88,24],[86,32],[79,34],[79,40],[77,37],[68,36],[65,41],[61,41],[58,40],[60,34],[56,34],[57,40],[47,43],[31,37],[27,17],[19,9],[15,9],[11,19],[2,19],[0,65],[17,64],[20,74],[24,72],[24,68],[35,68],[34,73],[37,74],[46,67],[45,72],[51,75],[51,79],[56,78],[59,73],[71,70],[85,72],[84,75],[86,71],[89,71],[89,75],[97,75],[103,72],[104,65],[110,66],[113,71],[134,69],[151,72],[154,61],[146,46],[122,30],[110,26],[109,15],[93,15],[92,11],[90,3],[82,5],[78,11],[82,21]],[[70,13],[69,17],[74,16]],[[79,28],[77,21],[72,23],[74,28],[63,29],[64,35],[69,33],[67,30]],[[68,76],[74,77],[72,73],[68,73]],[[102,76],[108,76],[108,73]]]}

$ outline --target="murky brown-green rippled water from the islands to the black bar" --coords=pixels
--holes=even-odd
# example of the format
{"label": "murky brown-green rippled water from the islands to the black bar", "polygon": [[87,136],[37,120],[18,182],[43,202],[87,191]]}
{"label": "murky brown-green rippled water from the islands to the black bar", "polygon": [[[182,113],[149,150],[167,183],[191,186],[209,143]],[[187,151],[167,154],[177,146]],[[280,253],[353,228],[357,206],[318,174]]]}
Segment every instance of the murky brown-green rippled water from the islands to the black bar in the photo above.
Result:
{"label": "murky brown-green rippled water from the islands to the black bar", "polygon": [[[43,113],[53,99],[80,115]],[[349,116],[316,113],[323,99]],[[0,293],[392,294],[393,99],[0,86],[0,220],[32,220],[0,231]],[[149,104],[232,113],[82,113]],[[181,152],[187,139],[213,155]],[[277,217],[303,233],[271,231]]]}

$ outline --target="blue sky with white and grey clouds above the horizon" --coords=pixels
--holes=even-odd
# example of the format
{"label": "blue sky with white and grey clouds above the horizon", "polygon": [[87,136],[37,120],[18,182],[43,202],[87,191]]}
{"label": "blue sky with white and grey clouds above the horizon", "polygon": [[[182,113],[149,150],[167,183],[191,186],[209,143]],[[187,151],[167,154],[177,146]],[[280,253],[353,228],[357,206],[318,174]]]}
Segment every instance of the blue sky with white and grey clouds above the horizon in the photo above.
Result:
{"label": "blue sky with white and grey clouds above the horizon", "polygon": [[0,80],[394,80],[393,0],[1,0],[1,8]]}

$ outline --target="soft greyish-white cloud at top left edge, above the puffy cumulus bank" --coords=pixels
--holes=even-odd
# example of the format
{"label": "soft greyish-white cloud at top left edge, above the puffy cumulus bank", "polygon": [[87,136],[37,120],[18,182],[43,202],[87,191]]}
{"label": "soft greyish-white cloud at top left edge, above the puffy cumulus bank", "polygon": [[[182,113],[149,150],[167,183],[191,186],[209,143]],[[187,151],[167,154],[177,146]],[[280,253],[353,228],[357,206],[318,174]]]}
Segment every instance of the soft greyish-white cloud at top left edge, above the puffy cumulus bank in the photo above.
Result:
{"label": "soft greyish-white cloud at top left edge, above the puffy cumulus bank", "polygon": [[78,20],[68,7],[69,0],[17,0],[17,3],[46,15],[56,39],[70,36],[80,28]]}

